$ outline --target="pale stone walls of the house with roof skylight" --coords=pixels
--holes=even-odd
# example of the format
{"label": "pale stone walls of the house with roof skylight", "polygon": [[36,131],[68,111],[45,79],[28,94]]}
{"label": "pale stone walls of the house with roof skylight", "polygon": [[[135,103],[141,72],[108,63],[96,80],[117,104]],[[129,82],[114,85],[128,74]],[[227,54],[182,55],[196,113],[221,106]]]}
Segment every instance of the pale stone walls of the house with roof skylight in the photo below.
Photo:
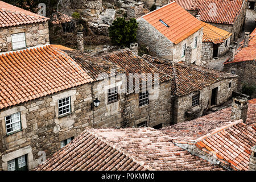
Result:
{"label": "pale stone walls of the house with roof skylight", "polygon": [[[197,65],[201,65],[201,47],[203,39],[203,28],[195,32],[188,38],[182,40],[178,44],[172,43],[166,36],[151,26],[145,19],[137,19],[137,39],[139,45],[148,46],[150,52],[154,56],[178,62],[185,61],[185,56],[181,55],[184,44],[192,48],[191,63],[196,61]],[[194,38],[197,36],[197,47],[194,47]]]}

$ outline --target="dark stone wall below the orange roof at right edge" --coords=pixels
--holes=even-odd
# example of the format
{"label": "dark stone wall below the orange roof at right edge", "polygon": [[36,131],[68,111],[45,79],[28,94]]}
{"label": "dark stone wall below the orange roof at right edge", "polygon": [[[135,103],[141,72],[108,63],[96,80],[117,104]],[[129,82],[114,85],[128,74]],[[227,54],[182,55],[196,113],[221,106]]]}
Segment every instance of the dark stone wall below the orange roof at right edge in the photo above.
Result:
{"label": "dark stone wall below the orange roof at right edge", "polygon": [[244,83],[256,85],[256,61],[241,61],[238,63],[224,64],[224,71],[231,73],[231,70],[238,75],[238,91],[241,92]]}

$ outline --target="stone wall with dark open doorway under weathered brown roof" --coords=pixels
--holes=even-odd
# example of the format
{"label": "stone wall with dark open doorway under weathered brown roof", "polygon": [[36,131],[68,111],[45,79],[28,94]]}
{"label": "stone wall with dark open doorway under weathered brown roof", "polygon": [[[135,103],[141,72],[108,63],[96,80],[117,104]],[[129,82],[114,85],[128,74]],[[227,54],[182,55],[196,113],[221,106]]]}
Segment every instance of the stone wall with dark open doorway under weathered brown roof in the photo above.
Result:
{"label": "stone wall with dark open doorway under weathered brown roof", "polygon": [[[231,88],[229,88],[229,83]],[[237,89],[237,78],[226,78],[222,81],[216,82],[210,86],[205,87],[197,92],[190,93],[182,97],[175,97],[172,108],[174,110],[173,122],[189,121],[191,119],[201,117],[204,111],[210,109],[210,100],[212,97],[212,89],[218,87],[217,105],[224,104],[232,97],[232,92]],[[200,93],[199,105],[192,107],[192,96]],[[216,105],[214,105],[216,106]],[[193,113],[193,116],[186,114],[187,111]]]}

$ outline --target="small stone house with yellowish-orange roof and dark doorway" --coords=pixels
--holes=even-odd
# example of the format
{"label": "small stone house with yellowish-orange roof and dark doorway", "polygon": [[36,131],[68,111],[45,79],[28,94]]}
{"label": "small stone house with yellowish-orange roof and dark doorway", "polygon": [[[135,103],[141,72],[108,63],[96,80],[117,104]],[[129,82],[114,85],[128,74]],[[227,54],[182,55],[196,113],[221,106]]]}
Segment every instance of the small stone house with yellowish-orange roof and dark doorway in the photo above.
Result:
{"label": "small stone house with yellowish-orange roof and dark doorway", "polygon": [[229,51],[231,33],[208,23],[204,24],[201,61],[221,57]]}

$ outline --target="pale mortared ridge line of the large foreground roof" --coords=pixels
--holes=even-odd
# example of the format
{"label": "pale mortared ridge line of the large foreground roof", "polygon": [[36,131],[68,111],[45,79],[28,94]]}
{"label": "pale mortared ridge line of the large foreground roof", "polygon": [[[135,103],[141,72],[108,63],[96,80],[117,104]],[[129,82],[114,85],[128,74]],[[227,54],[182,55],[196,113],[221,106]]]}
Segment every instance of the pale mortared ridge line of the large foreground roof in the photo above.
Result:
{"label": "pale mortared ridge line of the large foreground roof", "polygon": [[133,160],[135,163],[139,164],[141,167],[144,167],[146,169],[148,169],[149,171],[155,171],[155,169],[151,168],[148,165],[145,165],[144,162],[142,160],[137,159],[137,157],[130,155],[128,152],[122,150],[121,147],[118,147],[117,144],[112,144],[109,140],[104,139],[104,137],[101,137],[100,135],[98,135],[94,130],[95,129],[85,129],[88,133],[92,134],[95,138],[101,140],[102,142],[108,144],[110,147],[115,148],[116,150],[118,150],[119,152],[121,152],[123,155],[126,155],[128,158],[130,158],[131,160]]}

